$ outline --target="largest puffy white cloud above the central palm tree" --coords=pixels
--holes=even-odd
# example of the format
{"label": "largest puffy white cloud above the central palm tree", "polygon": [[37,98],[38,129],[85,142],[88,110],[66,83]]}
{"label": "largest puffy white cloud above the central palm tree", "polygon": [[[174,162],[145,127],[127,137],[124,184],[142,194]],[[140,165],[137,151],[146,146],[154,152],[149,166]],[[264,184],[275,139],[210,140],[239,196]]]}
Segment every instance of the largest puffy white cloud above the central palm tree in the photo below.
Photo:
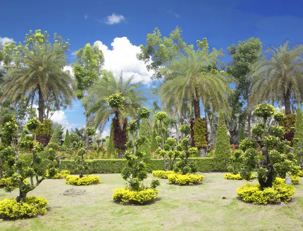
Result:
{"label": "largest puffy white cloud above the central palm tree", "polygon": [[143,80],[145,84],[150,83],[151,72],[148,72],[144,62],[136,57],[140,47],[131,44],[127,37],[116,37],[111,43],[113,49],[109,49],[102,41],[95,41],[94,45],[98,45],[104,53],[105,69],[117,74],[123,71],[126,78],[134,75],[135,82]]}

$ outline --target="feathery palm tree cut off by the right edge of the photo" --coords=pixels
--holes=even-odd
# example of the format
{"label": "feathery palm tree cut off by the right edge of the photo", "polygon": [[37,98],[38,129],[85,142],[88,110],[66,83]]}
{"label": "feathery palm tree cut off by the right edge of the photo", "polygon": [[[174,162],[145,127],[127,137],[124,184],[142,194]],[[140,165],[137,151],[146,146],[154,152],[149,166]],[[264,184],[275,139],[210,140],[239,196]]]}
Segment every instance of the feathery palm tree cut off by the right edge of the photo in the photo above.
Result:
{"label": "feathery palm tree cut off by the right edge of the photo", "polygon": [[300,104],[303,94],[303,45],[290,48],[286,41],[278,48],[267,48],[265,54],[270,60],[263,58],[252,65],[250,103],[277,100],[285,106],[285,114],[290,114],[291,95]]}

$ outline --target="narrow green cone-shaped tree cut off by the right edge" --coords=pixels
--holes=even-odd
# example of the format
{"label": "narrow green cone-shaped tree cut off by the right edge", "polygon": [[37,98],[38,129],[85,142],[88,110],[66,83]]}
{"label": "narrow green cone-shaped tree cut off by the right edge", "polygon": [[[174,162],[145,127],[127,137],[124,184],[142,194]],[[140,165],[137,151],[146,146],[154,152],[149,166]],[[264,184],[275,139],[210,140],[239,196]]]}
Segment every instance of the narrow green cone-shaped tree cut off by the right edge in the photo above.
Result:
{"label": "narrow green cone-shaped tree cut off by the right edge", "polygon": [[298,107],[297,114],[294,123],[294,137],[293,137],[293,153],[299,159],[301,169],[303,170],[303,159],[302,159],[302,151],[303,151],[303,113],[301,108]]}

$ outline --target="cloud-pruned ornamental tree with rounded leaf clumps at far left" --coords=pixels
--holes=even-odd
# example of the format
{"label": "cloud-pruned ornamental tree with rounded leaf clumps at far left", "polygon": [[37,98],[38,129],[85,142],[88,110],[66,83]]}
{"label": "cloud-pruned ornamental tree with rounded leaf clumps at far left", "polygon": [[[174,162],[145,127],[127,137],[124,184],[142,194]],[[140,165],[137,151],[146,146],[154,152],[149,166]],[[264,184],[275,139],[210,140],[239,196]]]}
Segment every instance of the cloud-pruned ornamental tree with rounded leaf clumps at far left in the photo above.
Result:
{"label": "cloud-pruned ornamental tree with rounded leaf clumps at far left", "polygon": [[[45,178],[48,172],[49,176],[54,176],[55,171],[48,171],[54,168],[54,156],[46,155],[43,152],[43,146],[34,141],[24,139],[17,146],[15,137],[17,135],[18,126],[16,118],[5,124],[2,136],[6,138],[8,143],[2,145],[0,152],[5,153],[7,161],[7,169],[5,177],[9,179],[8,185],[5,187],[7,192],[12,192],[19,188],[17,202],[25,202],[28,192],[34,190]],[[20,157],[20,150],[31,150],[31,160],[28,161]],[[30,183],[27,179],[30,179]]]}

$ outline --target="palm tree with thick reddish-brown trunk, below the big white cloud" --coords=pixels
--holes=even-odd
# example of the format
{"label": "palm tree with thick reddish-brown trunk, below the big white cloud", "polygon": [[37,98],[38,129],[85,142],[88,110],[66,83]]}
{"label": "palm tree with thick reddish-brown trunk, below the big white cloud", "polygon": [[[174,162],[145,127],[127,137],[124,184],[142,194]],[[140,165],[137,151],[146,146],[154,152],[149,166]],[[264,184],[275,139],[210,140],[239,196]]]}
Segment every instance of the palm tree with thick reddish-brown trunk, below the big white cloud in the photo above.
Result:
{"label": "palm tree with thick reddish-brown trunk, below the big white cloud", "polygon": [[[144,96],[147,92],[140,89],[143,83],[133,81],[134,76],[125,79],[122,72],[119,77],[115,77],[112,72],[106,72],[103,79],[89,88],[86,99],[89,102],[88,111],[94,114],[94,123],[100,132],[103,132],[106,123],[112,118],[114,144],[120,150],[119,158],[125,152],[128,117],[134,118],[137,108],[147,100]],[[111,104],[111,99],[118,100],[119,105]]]}

